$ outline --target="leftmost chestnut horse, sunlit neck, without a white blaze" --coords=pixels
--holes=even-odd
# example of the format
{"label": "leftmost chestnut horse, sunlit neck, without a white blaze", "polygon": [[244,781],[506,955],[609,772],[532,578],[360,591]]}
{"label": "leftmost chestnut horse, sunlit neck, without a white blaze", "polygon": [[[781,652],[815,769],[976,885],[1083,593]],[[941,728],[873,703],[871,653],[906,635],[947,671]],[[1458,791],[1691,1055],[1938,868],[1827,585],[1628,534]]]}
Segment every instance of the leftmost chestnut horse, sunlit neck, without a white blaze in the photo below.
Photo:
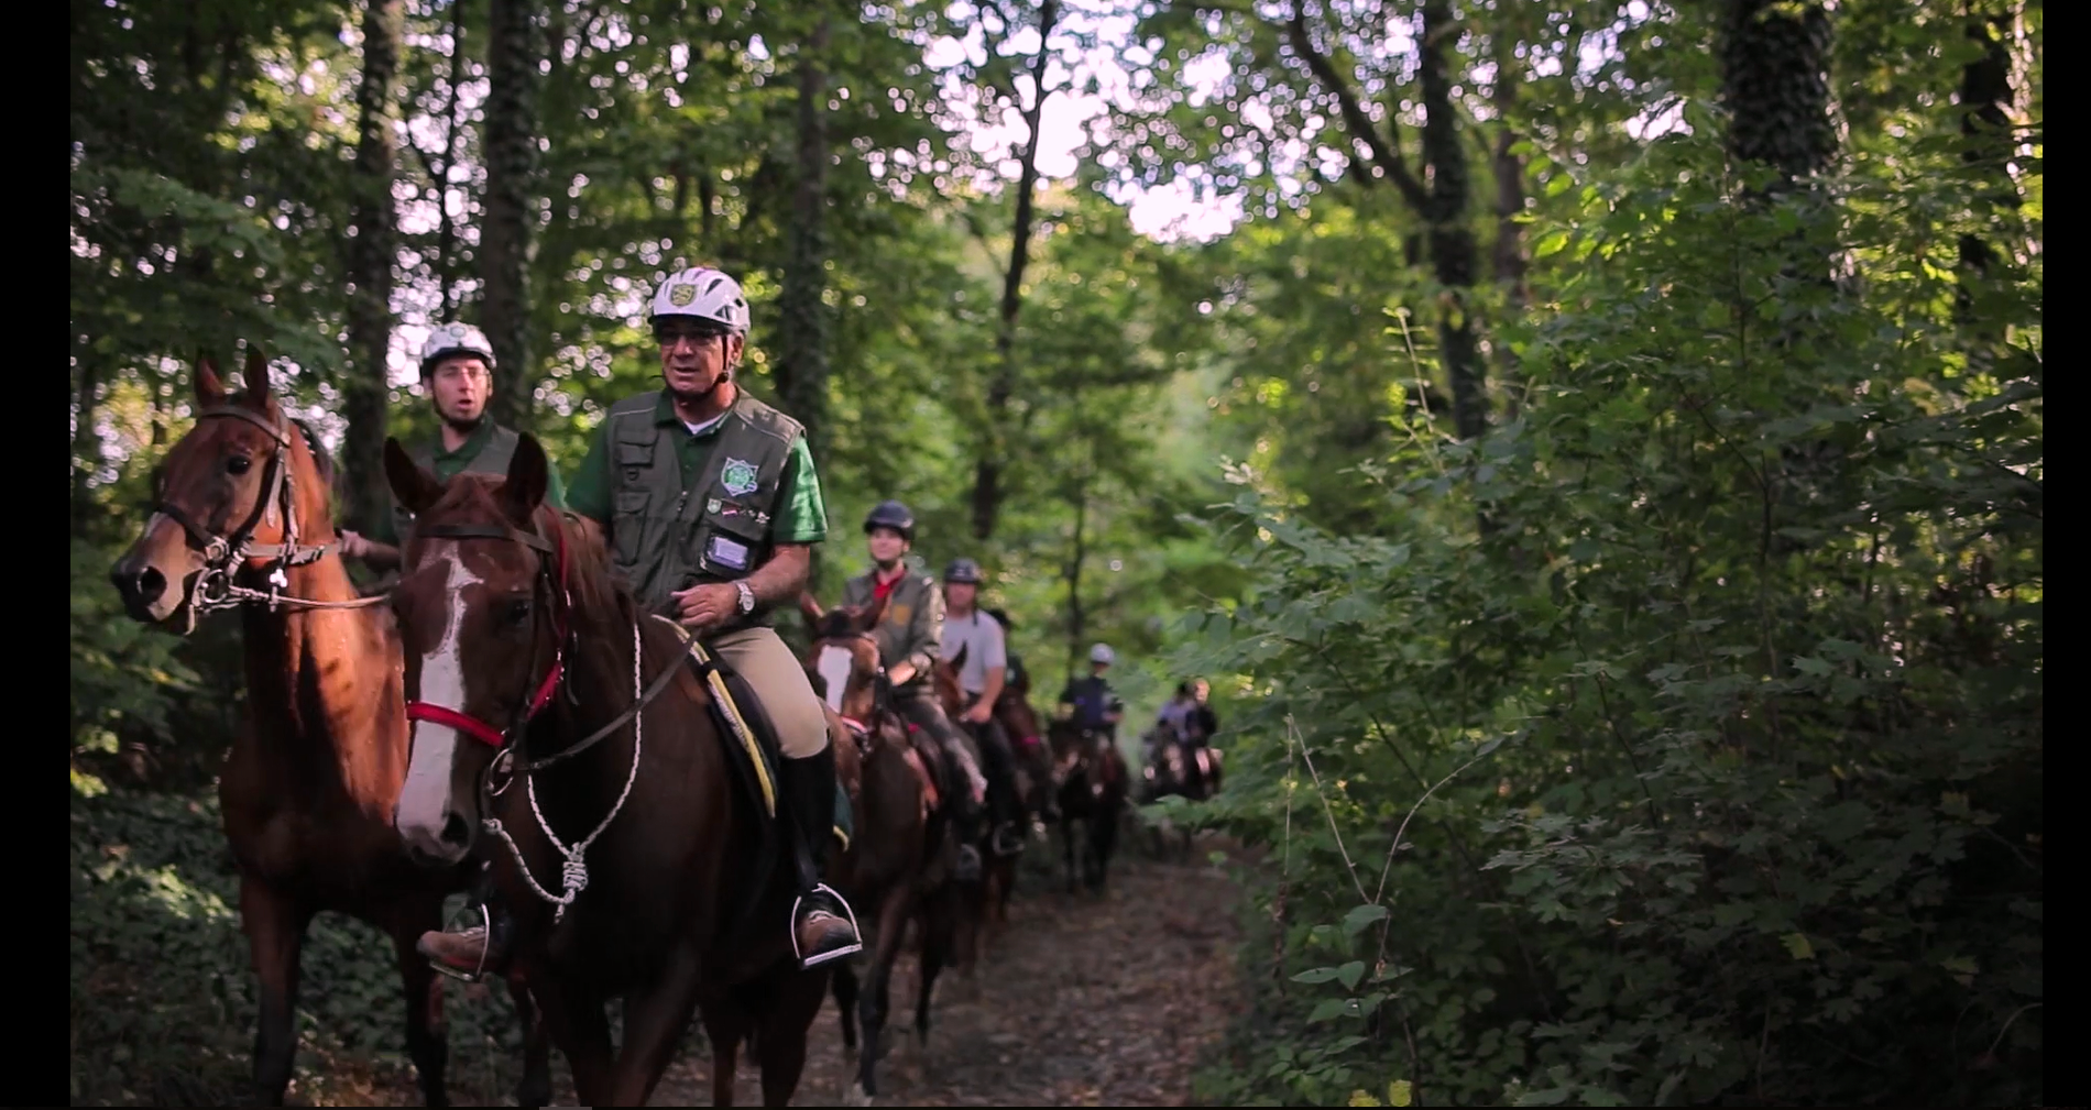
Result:
{"label": "leftmost chestnut horse, sunlit neck, without a white blaze", "polygon": [[[270,395],[259,349],[247,351],[245,380],[245,395],[228,399],[215,364],[197,362],[197,424],[159,462],[153,514],[111,579],[132,619],[180,635],[207,612],[240,608],[247,709],[217,801],[259,980],[253,1097],[282,1106],[305,930],[335,911],[391,939],[408,1056],[427,1104],[447,1106],[443,980],[414,941],[441,926],[443,897],[473,872],[424,868],[393,832],[408,767],[399,635],[341,564],[332,462]],[[529,995],[510,982],[510,997],[525,1041],[516,1102],[546,1106],[546,1035]]]}

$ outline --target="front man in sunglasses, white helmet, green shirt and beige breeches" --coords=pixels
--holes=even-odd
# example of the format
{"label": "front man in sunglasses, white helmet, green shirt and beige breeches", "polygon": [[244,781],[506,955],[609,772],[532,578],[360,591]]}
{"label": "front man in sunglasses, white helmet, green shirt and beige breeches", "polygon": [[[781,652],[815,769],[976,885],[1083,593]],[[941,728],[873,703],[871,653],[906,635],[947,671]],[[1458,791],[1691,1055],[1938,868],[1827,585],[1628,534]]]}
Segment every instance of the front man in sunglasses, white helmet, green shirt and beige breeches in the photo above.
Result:
{"label": "front man in sunglasses, white helmet, green shirt and beige breeches", "polygon": [[[805,587],[828,510],[805,429],[734,385],[749,301],[734,278],[694,268],[654,291],[667,389],[611,406],[573,477],[569,508],[600,529],[640,608],[677,621],[755,690],[776,725],[780,817],[792,832],[799,901],[790,939],[811,968],[864,945],[841,895],[820,882],[834,824],[834,748],[813,684],[763,619]],[[491,907],[491,903],[489,903]],[[506,914],[487,928],[427,932],[439,966],[498,972]]]}

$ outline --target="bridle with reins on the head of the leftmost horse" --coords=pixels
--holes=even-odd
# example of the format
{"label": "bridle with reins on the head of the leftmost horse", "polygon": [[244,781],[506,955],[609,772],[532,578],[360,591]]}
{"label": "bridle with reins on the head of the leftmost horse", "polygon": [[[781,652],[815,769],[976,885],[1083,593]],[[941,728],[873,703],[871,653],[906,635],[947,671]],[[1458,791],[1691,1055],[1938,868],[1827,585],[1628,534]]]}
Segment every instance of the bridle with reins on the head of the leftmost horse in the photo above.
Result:
{"label": "bridle with reins on the head of the leftmost horse", "polygon": [[[203,527],[203,523],[190,516],[188,510],[165,500],[159,491],[153,495],[153,512],[182,525],[188,539],[203,548],[203,571],[197,573],[186,598],[188,631],[197,631],[197,617],[201,615],[217,612],[222,608],[238,608],[249,602],[263,602],[270,610],[282,604],[299,604],[307,608],[360,608],[383,602],[385,598],[316,602],[307,598],[286,598],[282,594],[291,585],[291,579],[284,575],[286,566],[318,562],[330,548],[330,544],[297,541],[297,489],[291,477],[291,466],[284,458],[291,452],[289,418],[278,414],[278,420],[270,422],[243,406],[215,406],[199,412],[197,420],[201,422],[215,416],[247,420],[249,424],[266,431],[270,439],[276,441],[276,449],[268,458],[268,491],[255,500],[253,512],[238,529],[234,529],[230,537]],[[276,514],[282,514],[282,544],[255,544],[255,529],[274,521]],[[232,581],[238,575],[240,564],[249,558],[268,558],[276,562],[268,575],[268,589],[249,589]]]}

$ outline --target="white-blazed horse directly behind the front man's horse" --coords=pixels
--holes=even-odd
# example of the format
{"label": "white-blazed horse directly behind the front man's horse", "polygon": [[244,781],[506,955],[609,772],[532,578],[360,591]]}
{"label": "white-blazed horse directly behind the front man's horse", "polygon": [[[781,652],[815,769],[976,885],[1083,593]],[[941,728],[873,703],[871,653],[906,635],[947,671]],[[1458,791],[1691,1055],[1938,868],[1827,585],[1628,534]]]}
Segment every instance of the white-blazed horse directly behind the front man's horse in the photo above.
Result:
{"label": "white-blazed horse directly behind the front man's horse", "polygon": [[[878,669],[872,629],[884,615],[887,598],[864,606],[822,610],[811,594],[801,594],[811,646],[805,667],[828,711],[849,725],[861,761],[861,782],[849,803],[857,832],[830,868],[830,880],[876,922],[868,943],[870,980],[859,985],[849,964],[834,966],[834,1005],[843,1022],[843,1047],[857,1049],[857,1085],[851,1097],[868,1106],[878,1093],[876,1066],[884,1056],[891,1005],[889,985],[907,928],[916,926],[916,1043],[928,1043],[928,1003],[945,964],[970,955],[960,945],[962,886],[951,880],[956,842],[941,801],[943,759],[935,740],[907,723],[889,702]],[[964,959],[960,959],[964,964]],[[857,1045],[857,1024],[864,1045]]]}

